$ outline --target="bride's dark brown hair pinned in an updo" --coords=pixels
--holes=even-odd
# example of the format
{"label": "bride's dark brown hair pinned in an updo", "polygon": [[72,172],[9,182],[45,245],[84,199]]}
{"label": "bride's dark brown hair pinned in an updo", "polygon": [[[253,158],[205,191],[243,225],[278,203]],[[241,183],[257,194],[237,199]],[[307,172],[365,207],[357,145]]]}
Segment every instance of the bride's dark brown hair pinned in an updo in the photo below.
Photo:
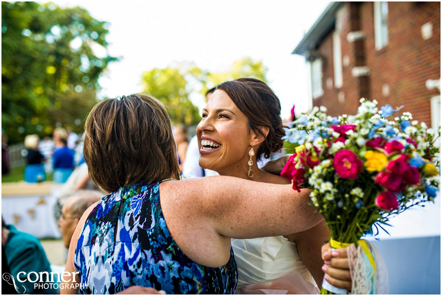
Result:
{"label": "bride's dark brown hair pinned in an updo", "polygon": [[[227,93],[241,112],[249,119],[249,128],[258,135],[265,137],[256,153],[256,158],[269,158],[273,152],[281,151],[285,135],[281,114],[281,104],[273,90],[263,81],[254,78],[240,78],[225,81],[217,86]],[[266,127],[266,136],[259,129]]]}

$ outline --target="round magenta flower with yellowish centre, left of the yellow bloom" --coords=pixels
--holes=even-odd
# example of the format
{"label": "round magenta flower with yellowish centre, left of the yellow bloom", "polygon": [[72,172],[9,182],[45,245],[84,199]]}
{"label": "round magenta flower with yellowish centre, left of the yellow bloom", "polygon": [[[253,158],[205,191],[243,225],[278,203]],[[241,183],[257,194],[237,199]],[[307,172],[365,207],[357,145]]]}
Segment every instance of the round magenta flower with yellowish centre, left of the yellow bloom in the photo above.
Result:
{"label": "round magenta flower with yellowish centre, left of the yellow bloom", "polygon": [[341,178],[356,179],[362,168],[362,161],[351,150],[340,150],[333,159],[333,166]]}

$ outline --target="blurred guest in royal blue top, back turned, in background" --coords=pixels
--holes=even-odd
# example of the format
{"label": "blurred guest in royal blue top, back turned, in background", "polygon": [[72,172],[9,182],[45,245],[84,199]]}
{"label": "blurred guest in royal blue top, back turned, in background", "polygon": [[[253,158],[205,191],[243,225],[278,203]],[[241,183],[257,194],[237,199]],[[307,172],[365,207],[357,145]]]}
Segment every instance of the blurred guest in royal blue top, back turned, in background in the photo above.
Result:
{"label": "blurred guest in royal blue top, back turned, in background", "polygon": [[54,182],[64,183],[74,170],[74,154],[75,151],[67,147],[67,140],[64,137],[59,137],[55,140],[55,147],[60,147],[55,150],[52,157],[52,164],[54,167]]}

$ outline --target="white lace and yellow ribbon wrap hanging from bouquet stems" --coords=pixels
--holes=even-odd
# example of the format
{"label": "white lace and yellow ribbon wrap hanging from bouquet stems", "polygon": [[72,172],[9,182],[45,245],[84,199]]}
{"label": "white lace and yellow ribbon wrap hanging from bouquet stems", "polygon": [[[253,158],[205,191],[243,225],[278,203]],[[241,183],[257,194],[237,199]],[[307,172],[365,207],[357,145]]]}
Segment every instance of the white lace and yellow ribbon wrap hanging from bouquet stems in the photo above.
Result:
{"label": "white lace and yellow ribbon wrap hanging from bouquet stems", "polygon": [[370,242],[360,240],[358,247],[347,247],[350,273],[352,276],[351,294],[387,294],[388,274],[384,258]]}

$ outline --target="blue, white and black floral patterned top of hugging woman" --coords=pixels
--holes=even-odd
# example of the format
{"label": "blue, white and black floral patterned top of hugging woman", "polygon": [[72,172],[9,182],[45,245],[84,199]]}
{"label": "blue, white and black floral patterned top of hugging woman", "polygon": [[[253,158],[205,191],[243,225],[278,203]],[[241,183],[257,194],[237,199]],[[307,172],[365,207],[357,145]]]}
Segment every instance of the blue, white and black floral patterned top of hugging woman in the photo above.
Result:
{"label": "blue, white and black floral patterned top of hugging woman", "polygon": [[133,285],[167,294],[235,292],[232,248],[225,266],[209,268],[192,261],[173,240],[160,205],[161,182],[121,187],[89,214],[74,258],[80,294],[115,294]]}

